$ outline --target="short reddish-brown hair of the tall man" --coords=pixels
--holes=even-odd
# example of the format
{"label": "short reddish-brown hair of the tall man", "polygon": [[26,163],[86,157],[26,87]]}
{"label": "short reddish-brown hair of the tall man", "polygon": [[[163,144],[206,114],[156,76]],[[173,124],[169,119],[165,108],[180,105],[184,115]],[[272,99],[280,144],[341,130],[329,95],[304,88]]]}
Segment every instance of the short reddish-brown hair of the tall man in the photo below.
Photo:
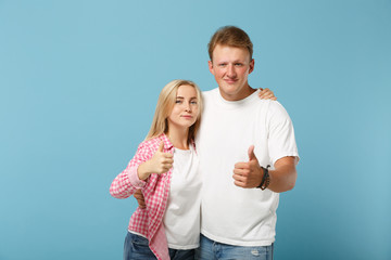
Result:
{"label": "short reddish-brown hair of the tall man", "polygon": [[247,49],[252,60],[253,44],[248,34],[236,26],[224,26],[216,30],[207,44],[207,51],[212,61],[213,51],[217,44]]}

